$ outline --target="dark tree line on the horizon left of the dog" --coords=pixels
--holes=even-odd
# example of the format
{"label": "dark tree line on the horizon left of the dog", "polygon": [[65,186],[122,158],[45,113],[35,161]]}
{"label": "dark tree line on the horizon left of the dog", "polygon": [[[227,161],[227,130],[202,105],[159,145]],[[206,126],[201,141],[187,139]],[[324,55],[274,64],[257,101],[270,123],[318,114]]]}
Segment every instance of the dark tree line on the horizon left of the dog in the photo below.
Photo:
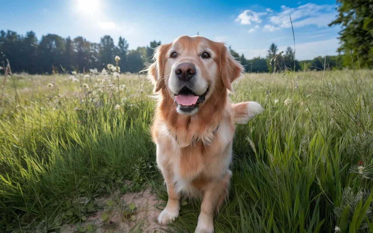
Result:
{"label": "dark tree line on the horizon left of the dog", "polygon": [[9,60],[13,72],[59,73],[72,70],[84,72],[88,69],[102,69],[114,63],[114,57],[121,59],[122,72],[139,72],[146,63],[151,63],[154,48],[160,41],[151,41],[148,46],[129,50],[128,42],[119,37],[118,44],[109,35],[100,43],[87,41],[83,37],[62,38],[59,35],[44,35],[40,42],[33,31],[25,36],[14,31],[0,31],[0,62]]}

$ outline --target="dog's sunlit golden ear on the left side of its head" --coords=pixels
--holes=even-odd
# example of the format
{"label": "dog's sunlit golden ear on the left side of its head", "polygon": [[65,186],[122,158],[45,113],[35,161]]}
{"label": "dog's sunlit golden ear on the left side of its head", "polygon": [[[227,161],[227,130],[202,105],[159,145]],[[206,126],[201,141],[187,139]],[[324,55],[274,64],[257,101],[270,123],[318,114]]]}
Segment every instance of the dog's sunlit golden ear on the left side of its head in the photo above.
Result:
{"label": "dog's sunlit golden ear on the left side of its head", "polygon": [[154,85],[154,92],[160,91],[164,85],[164,64],[166,60],[166,52],[170,44],[159,45],[153,54],[153,64],[151,64],[148,71],[148,79]]}

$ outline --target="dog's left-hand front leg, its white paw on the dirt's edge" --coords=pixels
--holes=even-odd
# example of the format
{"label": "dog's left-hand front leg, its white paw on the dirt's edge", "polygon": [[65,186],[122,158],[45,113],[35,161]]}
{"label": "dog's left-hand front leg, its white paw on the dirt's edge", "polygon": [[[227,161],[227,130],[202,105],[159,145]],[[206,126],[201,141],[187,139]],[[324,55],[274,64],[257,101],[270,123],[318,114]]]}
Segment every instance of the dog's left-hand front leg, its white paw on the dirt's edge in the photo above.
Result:
{"label": "dog's left-hand front leg, its white paw on the dirt's edge", "polygon": [[175,192],[175,186],[169,177],[164,176],[167,185],[168,201],[166,208],[159,214],[158,223],[166,224],[169,220],[175,220],[179,216],[180,211],[180,194]]}

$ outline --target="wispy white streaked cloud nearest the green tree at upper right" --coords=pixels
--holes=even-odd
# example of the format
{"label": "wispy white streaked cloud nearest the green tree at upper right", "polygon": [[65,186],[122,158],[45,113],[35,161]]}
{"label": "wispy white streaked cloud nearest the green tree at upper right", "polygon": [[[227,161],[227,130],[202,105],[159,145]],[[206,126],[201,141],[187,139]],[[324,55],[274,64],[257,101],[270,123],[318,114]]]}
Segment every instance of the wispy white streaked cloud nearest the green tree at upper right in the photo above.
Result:
{"label": "wispy white streaked cloud nearest the green tree at upper right", "polygon": [[298,7],[281,6],[281,11],[269,17],[269,21],[280,28],[291,28],[291,22],[294,28],[300,28],[308,25],[326,27],[328,23],[335,18],[335,5],[318,5],[307,3]]}

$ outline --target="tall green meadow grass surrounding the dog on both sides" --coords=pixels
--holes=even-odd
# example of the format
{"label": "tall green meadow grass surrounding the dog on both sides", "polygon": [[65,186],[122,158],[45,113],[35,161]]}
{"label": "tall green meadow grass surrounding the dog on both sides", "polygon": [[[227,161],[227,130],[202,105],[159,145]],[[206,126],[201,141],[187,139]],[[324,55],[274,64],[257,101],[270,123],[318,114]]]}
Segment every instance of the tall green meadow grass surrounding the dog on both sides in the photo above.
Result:
{"label": "tall green meadow grass surrounding the dog on both sides", "polygon": [[[151,85],[144,75],[121,75],[117,92],[117,79],[104,86],[97,78],[7,77],[0,231],[58,232],[89,216],[96,196],[145,183],[166,200],[148,130]],[[372,85],[371,70],[245,74],[235,82],[233,102],[254,100],[265,111],[236,127],[230,196],[215,232],[372,232]],[[88,201],[76,201],[82,197]],[[190,201],[170,229],[194,232],[198,212]]]}

